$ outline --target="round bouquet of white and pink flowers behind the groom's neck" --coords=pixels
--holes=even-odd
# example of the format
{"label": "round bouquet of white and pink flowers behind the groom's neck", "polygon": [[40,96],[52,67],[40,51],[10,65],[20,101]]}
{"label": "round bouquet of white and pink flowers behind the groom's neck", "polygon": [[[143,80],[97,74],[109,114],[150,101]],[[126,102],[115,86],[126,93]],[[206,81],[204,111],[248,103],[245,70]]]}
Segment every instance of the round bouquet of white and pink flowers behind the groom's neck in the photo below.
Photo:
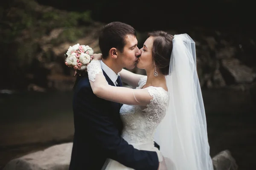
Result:
{"label": "round bouquet of white and pink flowers behind the groom's neck", "polygon": [[77,71],[84,71],[93,59],[93,49],[88,45],[76,44],[68,48],[65,56],[67,57],[65,64],[73,67],[77,73]]}

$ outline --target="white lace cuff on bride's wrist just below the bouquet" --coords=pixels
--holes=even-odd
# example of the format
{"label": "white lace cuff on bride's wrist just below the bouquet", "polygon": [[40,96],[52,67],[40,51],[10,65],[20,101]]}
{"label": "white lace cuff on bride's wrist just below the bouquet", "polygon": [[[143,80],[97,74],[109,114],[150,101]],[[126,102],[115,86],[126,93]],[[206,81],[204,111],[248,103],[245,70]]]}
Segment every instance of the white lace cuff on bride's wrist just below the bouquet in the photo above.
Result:
{"label": "white lace cuff on bride's wrist just below the bouquet", "polygon": [[92,60],[87,65],[88,78],[90,81],[95,82],[96,74],[102,72],[102,68],[100,65],[100,60]]}

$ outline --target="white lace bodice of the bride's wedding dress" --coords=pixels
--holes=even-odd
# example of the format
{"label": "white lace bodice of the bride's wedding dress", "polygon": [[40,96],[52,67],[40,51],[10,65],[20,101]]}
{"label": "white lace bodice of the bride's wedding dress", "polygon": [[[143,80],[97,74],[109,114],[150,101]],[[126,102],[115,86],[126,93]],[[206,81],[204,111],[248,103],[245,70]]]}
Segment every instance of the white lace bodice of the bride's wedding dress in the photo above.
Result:
{"label": "white lace bodice of the bride's wedding dress", "polygon": [[[147,77],[140,79],[136,89],[143,88]],[[148,93],[153,97],[147,108],[140,106],[123,105],[120,110],[124,124],[122,137],[129,144],[143,144],[153,142],[154,132],[157,125],[166,114],[167,91],[160,87],[148,87]]]}

